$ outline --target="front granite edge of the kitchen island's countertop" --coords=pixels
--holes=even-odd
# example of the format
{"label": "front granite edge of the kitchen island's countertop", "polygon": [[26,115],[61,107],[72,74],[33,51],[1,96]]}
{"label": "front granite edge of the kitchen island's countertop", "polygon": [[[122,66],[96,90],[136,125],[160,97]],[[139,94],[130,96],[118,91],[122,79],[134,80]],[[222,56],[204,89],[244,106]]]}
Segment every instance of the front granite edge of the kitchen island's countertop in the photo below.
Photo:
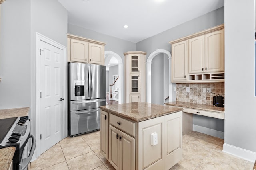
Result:
{"label": "front granite edge of the kitchen island's countertop", "polygon": [[160,117],[160,116],[164,116],[164,115],[168,115],[168,114],[172,114],[172,113],[176,113],[178,111],[182,111],[183,109],[180,108],[180,109],[176,109],[175,111],[165,111],[161,114],[157,114],[157,115],[148,115],[148,116],[144,116],[142,118],[135,118],[132,116],[132,113],[130,114],[123,114],[123,113],[120,113],[118,111],[114,111],[112,109],[108,109],[108,108],[105,108],[105,107],[102,107],[100,106],[100,109],[102,109],[103,111],[107,111],[107,112],[111,112],[113,113],[114,115],[117,115],[119,117],[122,117],[122,118],[126,118],[126,119],[129,119],[131,121],[135,121],[135,122],[141,122],[141,121],[146,121],[146,120],[149,120],[149,119],[153,119],[153,118],[156,118],[156,117]]}

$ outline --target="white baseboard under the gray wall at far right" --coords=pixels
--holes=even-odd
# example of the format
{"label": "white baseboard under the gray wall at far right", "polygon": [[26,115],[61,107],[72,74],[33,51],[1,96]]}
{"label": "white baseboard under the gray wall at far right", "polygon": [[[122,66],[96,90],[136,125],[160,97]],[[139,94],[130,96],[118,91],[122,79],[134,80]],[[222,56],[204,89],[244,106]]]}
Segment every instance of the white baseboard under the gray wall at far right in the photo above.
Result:
{"label": "white baseboard under the gray wall at far right", "polygon": [[227,143],[223,144],[223,150],[222,151],[226,152],[228,154],[232,154],[234,156],[237,156],[239,158],[248,160],[250,162],[255,162],[256,152],[252,152],[250,150],[235,147],[235,146],[229,145]]}

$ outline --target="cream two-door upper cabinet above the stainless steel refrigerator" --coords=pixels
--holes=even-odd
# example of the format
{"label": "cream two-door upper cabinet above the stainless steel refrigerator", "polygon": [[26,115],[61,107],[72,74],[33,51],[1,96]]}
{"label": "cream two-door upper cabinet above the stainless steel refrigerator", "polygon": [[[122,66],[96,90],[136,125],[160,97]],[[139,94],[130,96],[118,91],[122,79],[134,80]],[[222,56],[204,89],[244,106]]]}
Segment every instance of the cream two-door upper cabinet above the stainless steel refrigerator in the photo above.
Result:
{"label": "cream two-door upper cabinet above the stainless steel refrigerator", "polygon": [[104,65],[105,44],[68,34],[68,61]]}

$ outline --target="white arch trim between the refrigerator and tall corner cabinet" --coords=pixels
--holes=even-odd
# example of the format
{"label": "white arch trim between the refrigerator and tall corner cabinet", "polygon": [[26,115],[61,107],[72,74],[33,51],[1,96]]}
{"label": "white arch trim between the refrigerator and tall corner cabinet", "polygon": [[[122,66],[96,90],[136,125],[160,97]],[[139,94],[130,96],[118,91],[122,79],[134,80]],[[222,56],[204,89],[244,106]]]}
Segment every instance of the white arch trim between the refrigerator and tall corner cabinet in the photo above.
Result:
{"label": "white arch trim between the refrigerator and tall corner cabinet", "polygon": [[111,57],[115,57],[118,61],[118,75],[119,75],[119,84],[118,84],[118,88],[119,88],[119,94],[118,94],[118,98],[119,98],[119,101],[118,103],[121,104],[123,103],[123,61],[122,61],[122,58],[116,54],[115,52],[113,51],[105,51],[105,62],[106,61],[110,61]]}

